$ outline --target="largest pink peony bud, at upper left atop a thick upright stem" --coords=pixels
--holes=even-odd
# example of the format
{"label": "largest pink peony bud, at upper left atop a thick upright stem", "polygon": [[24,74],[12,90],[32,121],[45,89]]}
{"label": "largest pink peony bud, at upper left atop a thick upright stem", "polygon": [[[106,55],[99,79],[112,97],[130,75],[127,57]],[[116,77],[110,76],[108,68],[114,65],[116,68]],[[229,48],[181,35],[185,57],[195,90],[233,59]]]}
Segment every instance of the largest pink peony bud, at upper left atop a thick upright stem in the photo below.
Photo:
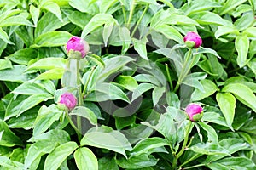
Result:
{"label": "largest pink peony bud, at upper left atop a thick upright stem", "polygon": [[84,39],[73,36],[67,42],[67,54],[69,54],[71,50],[79,52],[81,57],[84,58],[84,56],[89,52],[89,45],[84,41]]}

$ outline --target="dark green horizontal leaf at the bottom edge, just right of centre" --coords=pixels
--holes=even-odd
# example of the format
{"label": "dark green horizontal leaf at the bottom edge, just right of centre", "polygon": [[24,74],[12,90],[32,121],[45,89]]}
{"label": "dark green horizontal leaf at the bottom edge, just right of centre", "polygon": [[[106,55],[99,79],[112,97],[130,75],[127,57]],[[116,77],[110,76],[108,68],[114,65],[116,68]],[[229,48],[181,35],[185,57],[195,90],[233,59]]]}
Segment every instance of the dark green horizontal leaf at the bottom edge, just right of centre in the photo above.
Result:
{"label": "dark green horizontal leaf at the bottom edge, just right of centre", "polygon": [[121,157],[117,159],[117,163],[119,167],[124,169],[139,169],[143,167],[154,167],[157,163],[158,159],[154,158],[154,156],[148,156],[147,154],[143,154],[140,156],[134,156],[129,159],[125,159],[125,157]]}

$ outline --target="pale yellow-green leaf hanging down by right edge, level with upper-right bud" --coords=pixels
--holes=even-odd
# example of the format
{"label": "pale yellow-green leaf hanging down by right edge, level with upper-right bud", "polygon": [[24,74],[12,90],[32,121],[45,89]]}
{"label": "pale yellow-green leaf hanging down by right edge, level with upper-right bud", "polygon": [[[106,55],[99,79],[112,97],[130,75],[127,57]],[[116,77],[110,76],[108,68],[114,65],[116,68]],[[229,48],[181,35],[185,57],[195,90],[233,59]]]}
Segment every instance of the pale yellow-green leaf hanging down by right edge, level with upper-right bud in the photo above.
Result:
{"label": "pale yellow-green leaf hanging down by right edge, level with upper-right bud", "polygon": [[238,36],[235,41],[236,51],[238,53],[236,62],[239,67],[247,64],[247,53],[249,50],[249,39],[247,36]]}

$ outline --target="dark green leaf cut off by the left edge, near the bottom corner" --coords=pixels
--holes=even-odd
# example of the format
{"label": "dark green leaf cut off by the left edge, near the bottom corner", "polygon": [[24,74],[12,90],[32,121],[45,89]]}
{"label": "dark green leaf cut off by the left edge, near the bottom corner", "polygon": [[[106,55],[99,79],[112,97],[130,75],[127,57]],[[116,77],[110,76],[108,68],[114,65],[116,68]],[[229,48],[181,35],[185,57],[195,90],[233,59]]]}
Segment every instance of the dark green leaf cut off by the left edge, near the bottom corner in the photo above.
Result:
{"label": "dark green leaf cut off by the left edge, near the bottom corner", "polygon": [[15,145],[21,145],[19,137],[13,133],[8,125],[0,119],[0,146],[12,147]]}

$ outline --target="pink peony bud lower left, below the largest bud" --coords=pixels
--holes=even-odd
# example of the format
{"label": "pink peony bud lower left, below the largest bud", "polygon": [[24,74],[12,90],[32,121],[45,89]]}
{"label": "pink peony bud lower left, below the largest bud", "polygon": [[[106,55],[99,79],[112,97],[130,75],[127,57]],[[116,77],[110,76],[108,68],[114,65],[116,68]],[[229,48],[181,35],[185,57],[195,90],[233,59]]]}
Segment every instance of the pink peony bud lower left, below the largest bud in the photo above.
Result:
{"label": "pink peony bud lower left, below the largest bud", "polygon": [[71,111],[77,105],[77,99],[73,94],[66,92],[61,94],[59,104],[66,105],[67,109]]}

